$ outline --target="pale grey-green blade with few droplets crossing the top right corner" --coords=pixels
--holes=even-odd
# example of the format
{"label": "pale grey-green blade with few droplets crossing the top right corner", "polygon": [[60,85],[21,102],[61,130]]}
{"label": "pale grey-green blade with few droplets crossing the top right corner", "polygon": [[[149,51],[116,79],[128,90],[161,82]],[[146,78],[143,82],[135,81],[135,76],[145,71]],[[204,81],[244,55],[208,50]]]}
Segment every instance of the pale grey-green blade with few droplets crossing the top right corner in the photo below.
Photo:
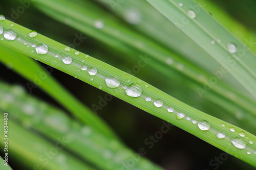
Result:
{"label": "pale grey-green blade with few droplets crossing the top right corner", "polygon": [[[147,1],[227,67],[231,75],[256,97],[256,58],[247,48],[255,42],[242,44],[193,1]],[[183,4],[182,7],[179,3]]]}

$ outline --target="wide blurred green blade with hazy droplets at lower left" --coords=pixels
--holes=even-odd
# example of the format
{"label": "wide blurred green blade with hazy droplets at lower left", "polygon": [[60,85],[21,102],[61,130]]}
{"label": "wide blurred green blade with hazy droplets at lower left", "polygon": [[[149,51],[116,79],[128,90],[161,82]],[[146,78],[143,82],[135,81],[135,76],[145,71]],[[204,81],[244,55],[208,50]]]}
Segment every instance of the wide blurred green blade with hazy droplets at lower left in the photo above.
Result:
{"label": "wide blurred green blade with hazy droplets at lower left", "polygon": [[[65,149],[78,155],[82,161],[90,161],[100,169],[111,170],[121,169],[122,162],[125,163],[131,156],[135,156],[139,159],[136,159],[134,169],[161,169],[127,149],[116,139],[106,137],[89,126],[81,126],[61,110],[26,93],[17,95],[16,88],[0,82],[0,101],[3,103],[0,109],[5,109],[10,118],[16,119],[24,128],[40,132],[55,142],[58,142],[56,139],[68,141]],[[5,101],[8,98],[12,100]],[[26,139],[30,140],[24,140]]]}

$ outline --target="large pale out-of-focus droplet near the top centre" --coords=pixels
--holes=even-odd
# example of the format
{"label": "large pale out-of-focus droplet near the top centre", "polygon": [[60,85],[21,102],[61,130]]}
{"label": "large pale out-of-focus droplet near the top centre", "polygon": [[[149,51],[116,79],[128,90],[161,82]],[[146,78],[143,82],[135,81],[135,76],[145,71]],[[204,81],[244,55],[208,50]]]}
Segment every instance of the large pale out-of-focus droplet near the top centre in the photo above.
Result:
{"label": "large pale out-of-focus droplet near the top centre", "polygon": [[141,22],[141,14],[137,9],[126,10],[124,18],[128,23],[138,25]]}

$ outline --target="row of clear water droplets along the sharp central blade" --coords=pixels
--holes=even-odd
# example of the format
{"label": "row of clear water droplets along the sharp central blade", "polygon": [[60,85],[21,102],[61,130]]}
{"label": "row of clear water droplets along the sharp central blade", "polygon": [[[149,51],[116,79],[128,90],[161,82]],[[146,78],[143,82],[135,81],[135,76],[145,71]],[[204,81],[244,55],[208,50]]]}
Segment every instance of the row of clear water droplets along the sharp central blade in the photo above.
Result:
{"label": "row of clear water droplets along the sharp central blade", "polygon": [[[0,16],[0,20],[4,20],[3,16]],[[78,67],[79,68],[78,71],[80,69],[87,70],[89,75],[91,75],[91,76],[96,75],[100,78],[103,78],[105,80],[106,86],[109,88],[114,89],[114,88],[118,88],[120,86],[121,88],[125,89],[125,94],[127,96],[131,96],[132,98],[138,98],[138,97],[144,98],[145,102],[152,102],[153,105],[157,108],[164,108],[169,113],[175,113],[177,119],[186,119],[193,124],[197,124],[198,128],[202,131],[208,131],[210,129],[210,124],[207,120],[193,119],[189,116],[186,116],[185,113],[175,110],[174,107],[164,104],[163,101],[161,101],[160,99],[152,99],[151,96],[147,96],[146,94],[144,94],[142,92],[142,87],[137,83],[131,83],[130,85],[126,86],[126,85],[124,85],[124,83],[121,83],[121,81],[117,77],[102,75],[98,72],[97,68],[89,67],[87,65],[81,65],[77,62],[74,62],[72,60],[72,57],[70,57],[70,56],[60,56],[59,54],[55,54],[55,53],[49,51],[49,48],[46,44],[41,43],[41,44],[36,45],[36,44],[30,43],[20,37],[16,38],[17,34],[13,30],[3,31],[3,27],[0,25],[0,34],[3,34],[3,33],[4,33],[4,38],[6,40],[13,41],[16,39],[16,40],[22,42],[24,45],[27,45],[28,47],[31,46],[31,47],[35,48],[36,53],[39,55],[49,54],[51,56],[59,58],[59,60],[62,60],[63,64],[67,64],[67,65],[72,64],[72,65]],[[37,37],[37,33],[35,31],[31,31],[28,35],[31,38]],[[3,40],[3,39],[1,39],[1,40]],[[234,51],[236,51],[235,48],[236,48],[236,46],[234,46],[232,43],[228,44],[228,50],[231,51],[230,53],[233,53]],[[63,50],[66,52],[71,52],[70,47],[65,47]],[[31,52],[33,53],[34,51],[32,50]],[[75,52],[75,55],[79,55],[79,54],[80,54],[80,52],[78,52],[78,51]],[[86,55],[85,57],[88,58],[89,56]],[[81,62],[84,62],[84,60],[82,60]],[[91,78],[90,80],[93,81],[94,79]],[[148,85],[145,85],[145,87],[148,87]],[[100,86],[100,88],[102,88],[102,86]],[[119,91],[121,92],[121,90],[119,90]],[[225,126],[222,125],[222,127],[225,127]],[[230,128],[229,130],[231,132],[235,132],[234,128]],[[211,129],[211,131],[214,131],[216,133],[216,137],[218,139],[223,139],[223,138],[230,139],[230,141],[236,148],[244,149],[246,147],[246,142],[239,137],[228,138],[228,137],[226,137],[224,132],[216,132],[214,129]],[[244,136],[245,136],[245,134],[243,132],[240,132],[240,137],[244,137]],[[253,141],[249,140],[248,143],[253,144]],[[250,153],[251,152],[248,152],[248,154],[250,154]],[[256,152],[254,152],[254,153],[256,154]]]}

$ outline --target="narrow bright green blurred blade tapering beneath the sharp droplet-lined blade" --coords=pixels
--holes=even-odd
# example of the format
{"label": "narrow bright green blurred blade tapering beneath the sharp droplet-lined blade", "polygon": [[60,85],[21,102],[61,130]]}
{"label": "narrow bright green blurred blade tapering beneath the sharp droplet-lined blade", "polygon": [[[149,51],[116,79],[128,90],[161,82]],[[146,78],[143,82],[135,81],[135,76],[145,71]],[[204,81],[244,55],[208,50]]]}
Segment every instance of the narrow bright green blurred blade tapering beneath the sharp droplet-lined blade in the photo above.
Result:
{"label": "narrow bright green blurred blade tapering beneath the sharp droplet-lined blade", "polygon": [[[51,76],[53,71],[52,67],[41,67],[31,58],[17,53],[10,48],[8,49],[2,44],[0,44],[0,52],[0,61],[7,65],[12,65],[13,70],[34,83],[26,84],[31,93],[33,88],[37,88],[38,86],[41,87],[61,103],[63,107],[66,107],[71,114],[76,116],[81,122],[98,129],[107,136],[117,138],[111,128],[108,127],[100,117],[95,115],[89,108],[74,98],[71,93]],[[26,65],[26,69],[24,69],[24,65]]]}

